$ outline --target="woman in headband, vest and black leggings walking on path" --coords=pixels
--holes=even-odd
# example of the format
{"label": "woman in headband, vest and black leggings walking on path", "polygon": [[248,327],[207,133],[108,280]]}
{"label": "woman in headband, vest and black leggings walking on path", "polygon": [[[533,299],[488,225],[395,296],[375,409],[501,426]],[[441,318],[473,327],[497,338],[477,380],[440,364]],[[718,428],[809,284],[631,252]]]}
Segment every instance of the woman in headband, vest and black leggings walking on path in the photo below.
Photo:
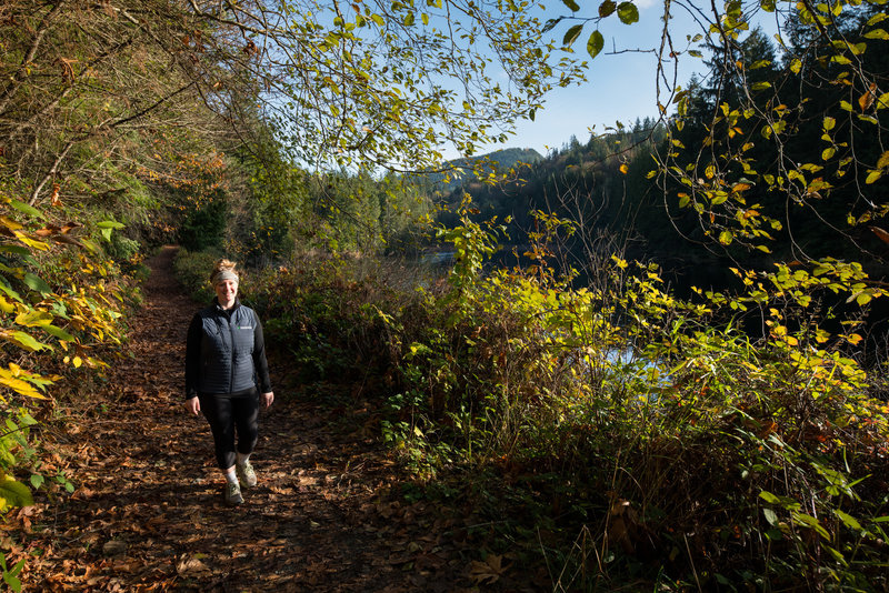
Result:
{"label": "woman in headband, vest and black leggings walking on path", "polygon": [[[250,454],[259,435],[259,403],[274,401],[259,316],[238,300],[236,264],[219,260],[210,274],[213,303],[191,320],[186,344],[186,409],[210,423],[227,504],[257,484]],[[237,444],[236,444],[237,434]]]}

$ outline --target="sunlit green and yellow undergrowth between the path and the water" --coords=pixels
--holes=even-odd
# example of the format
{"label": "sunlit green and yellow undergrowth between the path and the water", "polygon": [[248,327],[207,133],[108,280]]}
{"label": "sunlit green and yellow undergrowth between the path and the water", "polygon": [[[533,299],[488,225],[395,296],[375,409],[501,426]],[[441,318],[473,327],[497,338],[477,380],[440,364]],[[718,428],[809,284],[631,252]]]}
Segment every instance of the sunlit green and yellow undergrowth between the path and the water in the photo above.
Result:
{"label": "sunlit green and yellow undergrowth between the path and the water", "polygon": [[688,302],[615,257],[577,290],[546,255],[570,228],[541,225],[530,269],[482,273],[499,230],[463,217],[444,279],[294,259],[244,298],[304,381],[352,385],[338,404],[370,411],[404,495],[471,502],[485,552],[555,591],[889,587],[889,406],[855,325],[812,314],[848,270],[738,271],[747,292]]}

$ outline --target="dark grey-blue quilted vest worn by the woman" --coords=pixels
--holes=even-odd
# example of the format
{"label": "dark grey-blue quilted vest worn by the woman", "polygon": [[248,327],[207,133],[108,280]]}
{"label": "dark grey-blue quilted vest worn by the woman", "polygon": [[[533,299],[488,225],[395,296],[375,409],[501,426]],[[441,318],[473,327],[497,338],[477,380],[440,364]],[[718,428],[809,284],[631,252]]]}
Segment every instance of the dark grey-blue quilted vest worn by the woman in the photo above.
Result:
{"label": "dark grey-blue quilted vest worn by the woman", "polygon": [[217,304],[198,315],[202,322],[200,393],[238,393],[256,386],[253,331],[257,314],[237,304],[226,311]]}

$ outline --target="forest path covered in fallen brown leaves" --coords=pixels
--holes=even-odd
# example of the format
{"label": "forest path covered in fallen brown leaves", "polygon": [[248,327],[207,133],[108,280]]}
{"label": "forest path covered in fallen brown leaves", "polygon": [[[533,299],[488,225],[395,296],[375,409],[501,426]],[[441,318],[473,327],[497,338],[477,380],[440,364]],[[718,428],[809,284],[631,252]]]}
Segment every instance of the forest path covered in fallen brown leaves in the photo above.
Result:
{"label": "forest path covered in fallen brown leaves", "polygon": [[466,530],[382,495],[392,463],[344,415],[331,422],[293,398],[280,358],[276,402],[260,415],[259,484],[224,505],[207,422],[182,402],[186,331],[201,305],[172,274],[174,251],[149,262],[129,358],[57,435],[76,491],[10,517],[22,532],[8,559],[28,556],[24,590],[472,590]]}

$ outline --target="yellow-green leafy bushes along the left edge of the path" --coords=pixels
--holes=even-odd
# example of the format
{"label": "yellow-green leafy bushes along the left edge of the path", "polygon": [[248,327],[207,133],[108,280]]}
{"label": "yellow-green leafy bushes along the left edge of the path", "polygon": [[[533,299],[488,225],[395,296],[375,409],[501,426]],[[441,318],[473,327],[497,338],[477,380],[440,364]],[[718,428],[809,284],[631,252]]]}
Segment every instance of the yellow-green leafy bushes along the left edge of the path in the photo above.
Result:
{"label": "yellow-green leafy bushes along the left edge of the path", "polygon": [[[138,255],[113,240],[114,221],[59,222],[0,185],[0,513],[32,502],[32,489],[71,490],[37,439],[74,376],[101,375],[138,303]],[[86,232],[81,227],[87,227]],[[80,232],[74,237],[76,230]]]}

